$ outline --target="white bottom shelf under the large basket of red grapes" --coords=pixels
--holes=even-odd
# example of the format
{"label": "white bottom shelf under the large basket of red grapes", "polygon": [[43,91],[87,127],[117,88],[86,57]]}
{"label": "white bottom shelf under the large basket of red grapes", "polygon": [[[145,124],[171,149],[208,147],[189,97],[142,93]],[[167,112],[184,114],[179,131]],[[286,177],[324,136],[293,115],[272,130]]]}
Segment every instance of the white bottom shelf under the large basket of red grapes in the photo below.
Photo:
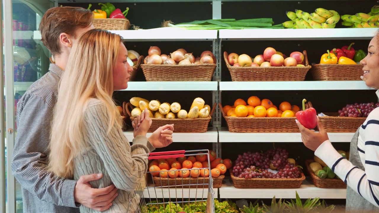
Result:
{"label": "white bottom shelf under the large basket of red grapes", "polygon": [[229,199],[250,199],[250,198],[269,198],[274,196],[283,199],[296,198],[295,191],[298,192],[300,198],[315,198],[321,199],[346,199],[346,189],[324,189],[317,188],[311,181],[303,181],[300,188],[296,189],[237,189],[233,186],[233,182],[229,179],[224,179],[225,184],[219,188],[220,198]]}

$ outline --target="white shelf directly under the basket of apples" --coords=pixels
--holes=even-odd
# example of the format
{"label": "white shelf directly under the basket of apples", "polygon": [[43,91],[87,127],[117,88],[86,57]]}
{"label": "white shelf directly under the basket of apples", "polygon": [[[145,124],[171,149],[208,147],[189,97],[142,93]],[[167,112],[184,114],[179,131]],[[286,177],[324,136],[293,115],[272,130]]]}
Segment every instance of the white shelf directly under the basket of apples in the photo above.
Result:
{"label": "white shelf directly under the basket of apples", "polygon": [[237,90],[367,90],[364,81],[220,81],[221,91]]}

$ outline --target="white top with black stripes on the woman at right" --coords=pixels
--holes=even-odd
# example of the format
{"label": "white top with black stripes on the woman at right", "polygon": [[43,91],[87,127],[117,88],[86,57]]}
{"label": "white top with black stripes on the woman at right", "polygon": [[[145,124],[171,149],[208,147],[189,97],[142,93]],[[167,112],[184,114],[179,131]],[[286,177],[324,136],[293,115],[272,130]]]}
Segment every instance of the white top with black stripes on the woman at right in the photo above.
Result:
{"label": "white top with black stripes on the woman at right", "polygon": [[[379,97],[379,90],[376,91]],[[359,130],[357,149],[365,171],[341,157],[329,140],[315,151],[338,177],[363,198],[379,207],[379,108],[375,108]]]}

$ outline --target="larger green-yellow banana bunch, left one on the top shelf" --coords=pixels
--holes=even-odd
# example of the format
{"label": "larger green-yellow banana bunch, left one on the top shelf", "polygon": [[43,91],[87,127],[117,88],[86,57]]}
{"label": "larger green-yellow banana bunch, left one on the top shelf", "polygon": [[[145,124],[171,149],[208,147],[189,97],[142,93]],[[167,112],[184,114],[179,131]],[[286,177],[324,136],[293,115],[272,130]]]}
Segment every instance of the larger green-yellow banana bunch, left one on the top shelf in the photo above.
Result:
{"label": "larger green-yellow banana bunch, left one on the top shelf", "polygon": [[317,8],[313,13],[296,9],[295,12],[287,11],[286,14],[291,20],[283,22],[283,27],[294,29],[335,28],[341,18],[337,11],[324,8]]}

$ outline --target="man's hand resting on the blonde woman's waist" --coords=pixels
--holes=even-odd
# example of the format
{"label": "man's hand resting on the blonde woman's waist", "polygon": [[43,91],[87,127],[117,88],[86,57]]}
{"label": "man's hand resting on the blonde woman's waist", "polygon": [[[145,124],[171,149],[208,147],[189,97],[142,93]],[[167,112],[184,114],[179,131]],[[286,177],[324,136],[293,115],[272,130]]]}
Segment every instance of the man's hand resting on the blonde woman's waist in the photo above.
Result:
{"label": "man's hand resting on the blonde woman's waist", "polygon": [[99,180],[102,174],[83,175],[76,183],[74,197],[75,202],[92,208],[96,211],[105,211],[111,207],[112,201],[117,197],[117,188],[114,185],[105,188],[92,188],[89,182]]}

